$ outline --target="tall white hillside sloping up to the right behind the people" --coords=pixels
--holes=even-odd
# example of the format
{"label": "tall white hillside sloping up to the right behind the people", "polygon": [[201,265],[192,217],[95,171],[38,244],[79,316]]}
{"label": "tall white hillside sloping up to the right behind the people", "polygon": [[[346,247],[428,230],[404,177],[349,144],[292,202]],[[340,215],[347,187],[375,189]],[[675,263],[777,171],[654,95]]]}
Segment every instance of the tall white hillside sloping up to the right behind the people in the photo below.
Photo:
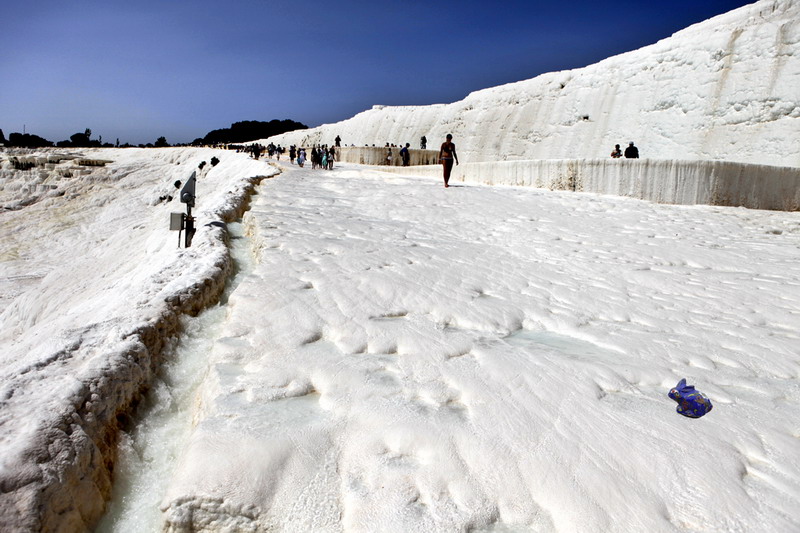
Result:
{"label": "tall white hillside sloping up to the right behind the people", "polygon": [[581,69],[270,140],[417,148],[425,135],[437,149],[452,133],[464,162],[602,158],[635,141],[643,158],[800,167],[798,87],[800,0],[761,0]]}

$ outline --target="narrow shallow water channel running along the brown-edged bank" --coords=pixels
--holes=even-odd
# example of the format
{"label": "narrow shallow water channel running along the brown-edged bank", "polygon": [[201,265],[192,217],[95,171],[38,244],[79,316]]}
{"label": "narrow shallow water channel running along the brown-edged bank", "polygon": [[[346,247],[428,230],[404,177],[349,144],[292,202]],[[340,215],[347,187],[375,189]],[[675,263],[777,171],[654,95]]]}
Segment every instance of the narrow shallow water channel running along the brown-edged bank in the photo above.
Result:
{"label": "narrow shallow water channel running along the brown-edged bank", "polygon": [[184,333],[166,354],[168,362],[140,404],[132,430],[121,435],[112,499],[98,532],[163,530],[159,506],[191,434],[197,387],[206,375],[208,354],[225,322],[229,295],[254,266],[242,224],[227,227],[234,274],[219,304],[197,317],[184,318]]}

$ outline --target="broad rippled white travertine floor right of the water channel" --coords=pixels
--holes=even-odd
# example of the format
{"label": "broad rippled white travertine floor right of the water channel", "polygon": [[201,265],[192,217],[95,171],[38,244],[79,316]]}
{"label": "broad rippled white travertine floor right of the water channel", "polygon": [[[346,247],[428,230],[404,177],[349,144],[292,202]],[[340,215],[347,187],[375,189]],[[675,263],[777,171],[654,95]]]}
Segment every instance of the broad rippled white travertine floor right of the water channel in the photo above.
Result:
{"label": "broad rippled white travertine floor right of the water channel", "polygon": [[340,166],[246,221],[169,530],[800,527],[800,214]]}

